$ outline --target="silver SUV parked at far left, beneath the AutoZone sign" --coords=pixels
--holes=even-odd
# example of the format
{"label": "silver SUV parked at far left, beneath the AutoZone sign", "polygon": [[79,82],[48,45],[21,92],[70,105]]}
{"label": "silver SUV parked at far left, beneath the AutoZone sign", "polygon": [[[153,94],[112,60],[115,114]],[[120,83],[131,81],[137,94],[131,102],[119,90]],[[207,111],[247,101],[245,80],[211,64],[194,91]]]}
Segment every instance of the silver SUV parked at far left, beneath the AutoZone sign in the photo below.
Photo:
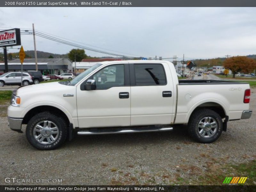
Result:
{"label": "silver SUV parked at far left, beneath the AutoZone sign", "polygon": [[[32,84],[32,77],[26,73],[22,73],[22,85]],[[4,85],[20,85],[21,84],[21,72],[8,72],[0,76],[0,87]]]}

